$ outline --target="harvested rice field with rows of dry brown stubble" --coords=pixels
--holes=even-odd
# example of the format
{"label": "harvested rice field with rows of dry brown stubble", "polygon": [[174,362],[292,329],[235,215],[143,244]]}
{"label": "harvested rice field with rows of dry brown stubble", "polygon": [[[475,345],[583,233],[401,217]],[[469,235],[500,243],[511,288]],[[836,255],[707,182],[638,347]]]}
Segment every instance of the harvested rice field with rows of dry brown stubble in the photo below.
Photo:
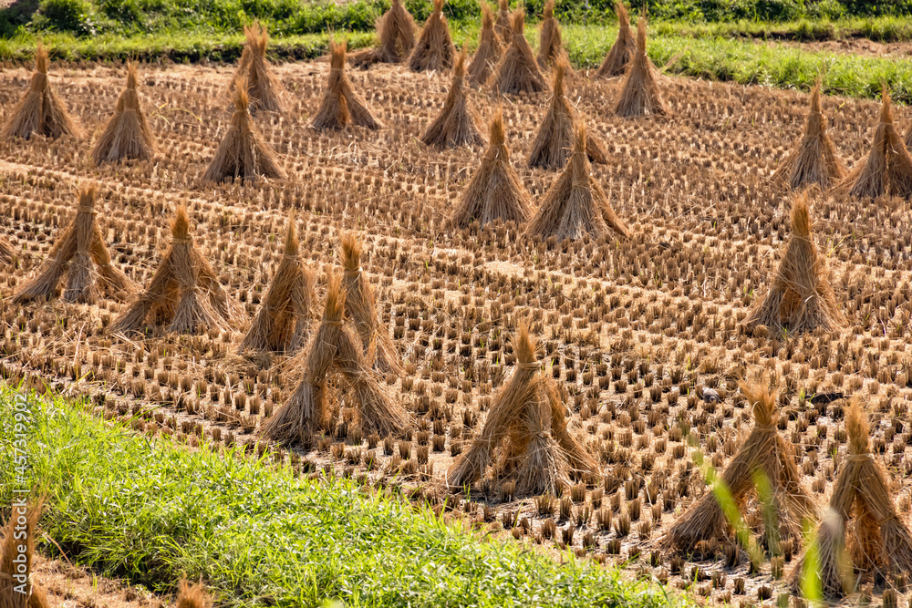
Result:
{"label": "harvested rice field with rows of dry brown stubble", "polygon": [[[457,227],[451,217],[486,166],[487,144],[422,143],[449,75],[350,67],[348,85],[378,129],[316,130],[329,61],[268,69],[283,111],[250,119],[243,96],[229,94],[235,66],[141,65],[135,89],[157,148],[96,166],[91,144],[127,67],[51,64],[57,98],[85,136],[0,140],[0,236],[15,256],[0,272],[7,383],[88,396],[99,417],[123,417],[150,436],[275,449],[302,475],[398,488],[441,517],[617,563],[707,603],[789,602],[807,545],[803,513],[812,529],[824,521],[820,538],[845,528],[857,577],[846,602],[907,603],[908,202],[847,188],[799,197],[772,179],[802,138],[810,96],[657,74],[664,115],[623,119],[623,77],[567,73],[566,98],[586,124],[567,154],[569,200],[584,189],[595,201],[600,189],[614,221],[599,219],[593,203],[596,235],[554,229],[572,234],[558,241],[524,232],[540,202],[555,199],[546,195],[562,172],[527,167],[549,92],[467,88],[484,141],[501,113],[495,151],[508,150],[528,196],[513,203],[525,206],[519,223]],[[31,70],[0,71],[0,124]],[[851,171],[871,149],[880,104],[820,104]],[[905,133],[905,112],[894,114]],[[275,160],[274,177],[204,180],[226,132],[243,134],[251,120],[257,145],[275,150],[254,157]],[[586,141],[597,141],[603,162],[584,163]],[[900,191],[902,180],[889,179],[887,191]],[[805,210],[794,213],[794,236],[793,209]],[[52,297],[20,297],[78,216],[94,221],[97,232],[87,230],[122,273],[117,293],[77,293],[74,269],[91,264],[73,245],[76,261],[57,269]],[[175,217],[184,219],[172,231]],[[828,288],[815,283],[824,268]],[[819,289],[790,291],[808,269]],[[109,286],[104,268],[86,272]],[[178,278],[153,294],[157,272]],[[293,306],[268,297],[276,276],[294,276],[285,281],[299,288]],[[767,301],[771,291],[781,302]],[[770,327],[770,306],[804,310],[796,297],[823,304]],[[277,349],[296,352],[264,347],[277,329],[261,327],[259,342],[248,335],[261,310],[297,315]],[[747,323],[758,318],[766,325]],[[521,326],[528,337],[518,337]],[[740,388],[758,375],[771,393]],[[306,423],[306,407],[289,410],[302,403],[313,408]],[[746,473],[732,477],[732,463]],[[849,465],[869,476],[857,486],[883,482],[874,485],[885,502],[858,490],[831,503],[834,489],[845,499],[855,483],[839,483]],[[870,472],[881,467],[883,479]],[[718,507],[695,511],[715,500],[713,470],[726,471],[754,541],[738,547]],[[757,470],[772,476],[765,532],[763,492],[751,491]],[[827,504],[845,521],[828,523]]]}

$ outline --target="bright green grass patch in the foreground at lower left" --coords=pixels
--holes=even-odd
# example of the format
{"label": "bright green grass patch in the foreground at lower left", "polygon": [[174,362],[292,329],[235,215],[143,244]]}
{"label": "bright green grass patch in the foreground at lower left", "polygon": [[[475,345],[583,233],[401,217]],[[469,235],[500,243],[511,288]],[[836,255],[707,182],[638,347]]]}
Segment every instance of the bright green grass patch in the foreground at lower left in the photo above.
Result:
{"label": "bright green grass patch in the foreground at lower left", "polygon": [[[14,398],[0,388],[0,504],[14,486]],[[680,603],[616,570],[485,540],[350,481],[295,477],[270,455],[137,436],[62,400],[34,402],[28,445],[30,476],[47,492],[42,530],[70,560],[155,590],[202,576],[233,606]]]}

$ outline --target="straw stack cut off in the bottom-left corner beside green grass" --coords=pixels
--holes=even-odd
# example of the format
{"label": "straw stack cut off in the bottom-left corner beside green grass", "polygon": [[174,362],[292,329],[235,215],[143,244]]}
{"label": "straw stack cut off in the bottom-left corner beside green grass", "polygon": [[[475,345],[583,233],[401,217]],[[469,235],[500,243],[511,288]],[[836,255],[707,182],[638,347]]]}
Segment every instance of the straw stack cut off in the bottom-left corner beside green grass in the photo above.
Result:
{"label": "straw stack cut off in the bottom-left corner beside green grass", "polygon": [[[35,582],[33,572],[37,534],[35,527],[41,517],[41,501],[30,503],[26,507],[24,526],[19,522],[20,516],[19,508],[14,506],[4,527],[3,541],[0,541],[0,608],[48,608],[50,603],[47,602],[47,593]],[[22,536],[23,533],[25,536]],[[21,562],[23,557],[25,563]],[[23,567],[28,577],[28,582],[25,583],[26,593],[16,589],[22,583],[13,578],[22,573]]]}

